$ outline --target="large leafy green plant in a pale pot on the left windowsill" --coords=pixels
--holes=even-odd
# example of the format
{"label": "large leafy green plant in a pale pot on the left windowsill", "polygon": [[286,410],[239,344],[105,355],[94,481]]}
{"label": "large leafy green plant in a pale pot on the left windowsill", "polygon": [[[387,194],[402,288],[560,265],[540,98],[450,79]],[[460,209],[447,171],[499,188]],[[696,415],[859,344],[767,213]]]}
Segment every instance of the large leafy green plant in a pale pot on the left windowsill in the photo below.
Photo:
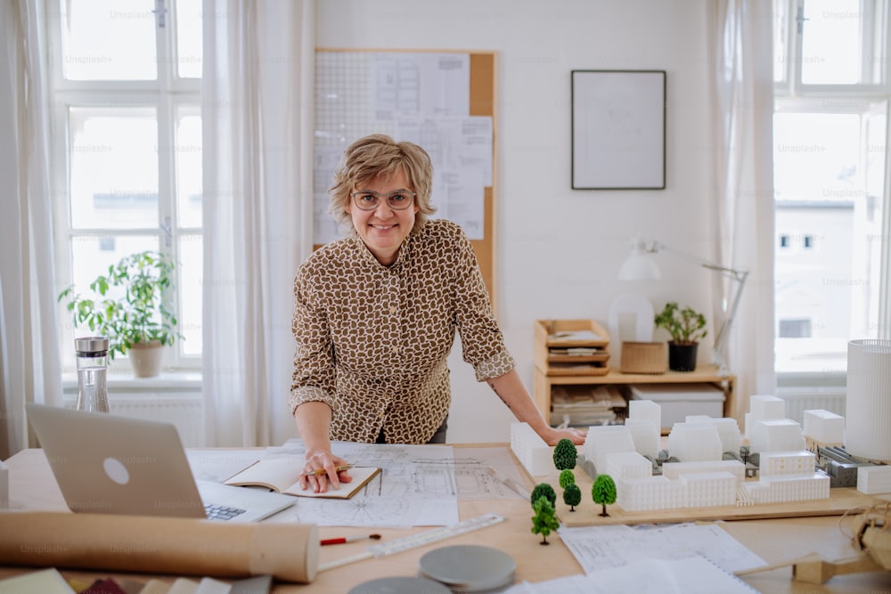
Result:
{"label": "large leafy green plant in a pale pot on the left windowsill", "polygon": [[[59,294],[67,300],[75,327],[86,325],[109,339],[109,356],[127,354],[137,378],[159,374],[163,346],[183,336],[176,331],[176,314],[165,302],[173,289],[175,264],[170,256],[147,250],[123,257],[90,283],[91,297],[71,285]],[[114,289],[120,288],[120,289]],[[112,297],[123,290],[120,297]]]}

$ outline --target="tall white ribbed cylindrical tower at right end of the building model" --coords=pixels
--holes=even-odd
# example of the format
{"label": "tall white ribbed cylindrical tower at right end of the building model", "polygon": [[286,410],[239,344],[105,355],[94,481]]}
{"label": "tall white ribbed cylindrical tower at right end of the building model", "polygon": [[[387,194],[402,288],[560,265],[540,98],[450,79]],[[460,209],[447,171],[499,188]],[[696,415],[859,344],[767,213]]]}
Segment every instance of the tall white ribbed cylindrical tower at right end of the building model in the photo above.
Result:
{"label": "tall white ribbed cylindrical tower at right end of the building model", "polygon": [[891,340],[851,340],[847,344],[845,449],[891,462]]}

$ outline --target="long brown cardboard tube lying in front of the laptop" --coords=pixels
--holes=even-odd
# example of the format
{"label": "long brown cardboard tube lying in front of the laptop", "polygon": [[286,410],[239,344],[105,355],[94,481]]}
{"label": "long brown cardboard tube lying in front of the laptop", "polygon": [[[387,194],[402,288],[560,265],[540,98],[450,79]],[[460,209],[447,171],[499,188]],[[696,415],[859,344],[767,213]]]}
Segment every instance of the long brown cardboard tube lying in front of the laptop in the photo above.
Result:
{"label": "long brown cardboard tube lying in front of the laptop", "polygon": [[318,528],[181,517],[0,513],[4,564],[286,582],[315,579]]}

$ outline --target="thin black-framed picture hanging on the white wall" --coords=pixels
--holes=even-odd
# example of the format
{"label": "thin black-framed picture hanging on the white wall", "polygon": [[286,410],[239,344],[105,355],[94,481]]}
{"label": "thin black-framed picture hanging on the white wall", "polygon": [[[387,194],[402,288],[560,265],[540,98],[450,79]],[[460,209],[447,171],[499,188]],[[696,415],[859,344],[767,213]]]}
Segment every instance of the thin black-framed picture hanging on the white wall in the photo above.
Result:
{"label": "thin black-framed picture hanging on the white wall", "polygon": [[666,71],[572,70],[572,189],[665,187]]}

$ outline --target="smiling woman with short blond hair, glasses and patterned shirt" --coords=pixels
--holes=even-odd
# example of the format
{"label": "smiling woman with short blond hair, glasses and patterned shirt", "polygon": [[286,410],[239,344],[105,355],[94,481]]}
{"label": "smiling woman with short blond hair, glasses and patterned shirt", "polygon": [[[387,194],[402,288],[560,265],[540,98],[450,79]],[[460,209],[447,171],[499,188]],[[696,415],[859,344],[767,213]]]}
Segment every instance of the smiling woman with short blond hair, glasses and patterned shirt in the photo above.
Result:
{"label": "smiling woman with short blond hair, glasses and patterned shirt", "polygon": [[446,441],[455,330],[464,361],[517,419],[547,443],[584,443],[584,432],[549,427],[535,408],[470,241],[458,225],[428,219],[432,178],[426,151],[383,134],[354,142],[334,176],[331,214],[353,232],[309,256],[294,281],[290,407],[307,448],[305,488],[350,480],[331,439]]}

